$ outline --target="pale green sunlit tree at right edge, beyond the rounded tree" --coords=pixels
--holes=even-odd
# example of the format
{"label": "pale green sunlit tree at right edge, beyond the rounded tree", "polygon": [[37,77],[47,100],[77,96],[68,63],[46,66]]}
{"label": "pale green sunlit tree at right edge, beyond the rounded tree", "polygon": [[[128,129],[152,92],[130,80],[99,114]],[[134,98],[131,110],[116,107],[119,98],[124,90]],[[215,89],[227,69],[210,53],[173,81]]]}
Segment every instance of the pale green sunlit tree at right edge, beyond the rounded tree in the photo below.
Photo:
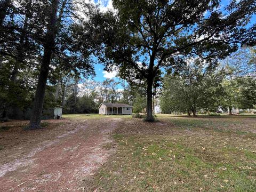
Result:
{"label": "pale green sunlit tree at right edge, beyond the rounded tree", "polygon": [[225,95],[222,106],[240,109],[255,108],[256,105],[256,57],[255,47],[243,47],[221,61],[227,71],[222,86]]}

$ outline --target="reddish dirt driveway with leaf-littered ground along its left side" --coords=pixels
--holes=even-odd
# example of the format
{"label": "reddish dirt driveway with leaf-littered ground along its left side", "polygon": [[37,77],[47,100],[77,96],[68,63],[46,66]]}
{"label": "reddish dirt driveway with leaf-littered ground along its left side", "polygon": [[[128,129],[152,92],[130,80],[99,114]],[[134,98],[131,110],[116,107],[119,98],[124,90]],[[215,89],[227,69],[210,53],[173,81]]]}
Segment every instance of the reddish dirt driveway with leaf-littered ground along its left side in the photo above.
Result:
{"label": "reddish dirt driveway with leaf-littered ground along its left side", "polygon": [[83,191],[114,151],[109,133],[122,119],[51,123],[47,129],[0,133],[0,191]]}

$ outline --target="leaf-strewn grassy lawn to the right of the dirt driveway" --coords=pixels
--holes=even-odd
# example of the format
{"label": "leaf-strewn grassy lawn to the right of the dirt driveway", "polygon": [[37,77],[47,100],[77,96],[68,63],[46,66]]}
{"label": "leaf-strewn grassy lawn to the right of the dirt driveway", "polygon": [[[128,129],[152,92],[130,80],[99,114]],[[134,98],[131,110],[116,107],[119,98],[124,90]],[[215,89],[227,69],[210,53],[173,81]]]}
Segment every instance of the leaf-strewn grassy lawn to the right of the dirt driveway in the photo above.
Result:
{"label": "leaf-strewn grassy lawn to the right of the dirt driveway", "polygon": [[113,132],[115,155],[84,179],[85,189],[256,191],[255,117],[129,117]]}

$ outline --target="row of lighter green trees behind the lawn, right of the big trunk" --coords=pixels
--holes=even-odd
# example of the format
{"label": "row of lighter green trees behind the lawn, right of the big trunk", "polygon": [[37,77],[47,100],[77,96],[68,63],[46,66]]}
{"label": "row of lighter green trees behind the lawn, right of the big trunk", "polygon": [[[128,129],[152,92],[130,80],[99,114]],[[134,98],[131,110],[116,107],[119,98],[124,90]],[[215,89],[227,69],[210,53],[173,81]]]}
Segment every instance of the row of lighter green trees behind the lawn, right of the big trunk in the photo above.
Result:
{"label": "row of lighter green trees behind the lawn, right of the big trunk", "polygon": [[256,108],[256,49],[244,47],[225,60],[215,63],[188,58],[178,72],[164,76],[161,94],[163,113],[196,115],[232,108]]}

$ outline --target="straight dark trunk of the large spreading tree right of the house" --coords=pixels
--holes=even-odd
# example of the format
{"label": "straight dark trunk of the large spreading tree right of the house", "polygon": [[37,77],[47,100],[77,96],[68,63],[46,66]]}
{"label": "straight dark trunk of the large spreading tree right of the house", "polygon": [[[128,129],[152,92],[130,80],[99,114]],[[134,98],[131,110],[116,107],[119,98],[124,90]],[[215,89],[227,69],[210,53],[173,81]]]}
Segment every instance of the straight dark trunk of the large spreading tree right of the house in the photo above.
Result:
{"label": "straight dark trunk of the large spreading tree right of the house", "polygon": [[153,79],[147,79],[147,116],[146,121],[153,122],[154,117],[152,113],[152,86],[153,86]]}

